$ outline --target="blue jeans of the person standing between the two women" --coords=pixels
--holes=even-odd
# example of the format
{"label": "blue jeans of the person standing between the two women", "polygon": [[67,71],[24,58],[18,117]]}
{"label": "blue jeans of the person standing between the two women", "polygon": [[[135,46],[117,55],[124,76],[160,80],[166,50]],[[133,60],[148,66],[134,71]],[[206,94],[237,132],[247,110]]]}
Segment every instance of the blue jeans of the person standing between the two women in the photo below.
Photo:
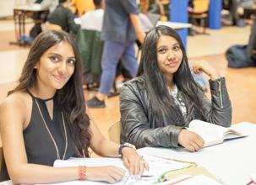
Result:
{"label": "blue jeans of the person standing between the two women", "polygon": [[120,43],[105,40],[101,59],[102,73],[99,92],[106,95],[110,93],[120,59],[123,67],[135,77],[138,61],[135,58],[134,42]]}

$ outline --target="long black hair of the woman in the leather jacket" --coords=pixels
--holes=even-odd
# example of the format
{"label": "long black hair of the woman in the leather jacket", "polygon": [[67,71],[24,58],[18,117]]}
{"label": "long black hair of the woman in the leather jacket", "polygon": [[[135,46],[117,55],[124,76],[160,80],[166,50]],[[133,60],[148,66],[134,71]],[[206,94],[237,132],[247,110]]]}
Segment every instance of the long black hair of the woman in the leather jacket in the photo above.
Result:
{"label": "long black hair of the woman in the leather jacket", "polygon": [[[157,62],[157,41],[161,34],[169,35],[176,39],[182,50],[182,62],[173,75],[173,82],[179,90],[179,98],[182,98],[187,108],[188,114],[185,118],[182,116],[182,112],[177,103],[175,103],[174,98],[170,96],[166,87],[168,82]],[[155,118],[159,119],[157,121],[160,125],[164,126],[166,121],[162,120],[164,118],[163,114],[166,115],[167,121],[172,120],[174,124],[180,126],[188,124],[193,119],[191,116],[195,114],[200,115],[204,119],[204,111],[199,101],[199,97],[204,92],[198,83],[193,80],[184,45],[174,29],[161,25],[151,29],[146,35],[142,45],[142,56],[137,76],[140,75],[144,76],[146,88],[150,96],[151,108],[153,114],[159,115],[155,116]],[[177,116],[174,118],[173,115]]]}

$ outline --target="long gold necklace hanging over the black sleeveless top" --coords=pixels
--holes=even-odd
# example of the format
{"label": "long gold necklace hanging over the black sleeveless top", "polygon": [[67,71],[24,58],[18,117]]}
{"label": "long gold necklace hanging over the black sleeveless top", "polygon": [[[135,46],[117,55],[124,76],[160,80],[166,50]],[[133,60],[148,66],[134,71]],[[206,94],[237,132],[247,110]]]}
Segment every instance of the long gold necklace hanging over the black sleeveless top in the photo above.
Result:
{"label": "long gold necklace hanging over the black sleeveless top", "polygon": [[[39,104],[37,103],[37,100],[35,99],[35,103],[37,105],[37,108],[39,110],[39,113],[41,114],[41,108],[39,107]],[[47,124],[46,124],[46,120],[44,119],[43,115],[41,114],[41,119],[43,120],[45,126],[46,126],[46,129],[48,131],[48,134],[50,135],[51,139],[52,139],[52,142],[53,142],[53,145],[55,146],[55,150],[56,150],[56,153],[57,153],[57,159],[61,159],[60,157],[60,154],[59,154],[59,151],[58,151],[58,148],[57,148],[57,143],[56,141],[54,140],[53,136],[52,136],[52,133],[50,131],[50,129],[48,128]],[[65,120],[64,120],[64,117],[63,117],[63,112],[62,112],[62,119],[63,119],[63,128],[64,128],[64,133],[65,133],[65,151],[64,151],[64,154],[63,154],[63,160],[65,159],[65,156],[66,156],[66,151],[67,151],[67,148],[68,148],[68,137],[67,137],[67,130],[66,130],[66,125],[65,125]]]}

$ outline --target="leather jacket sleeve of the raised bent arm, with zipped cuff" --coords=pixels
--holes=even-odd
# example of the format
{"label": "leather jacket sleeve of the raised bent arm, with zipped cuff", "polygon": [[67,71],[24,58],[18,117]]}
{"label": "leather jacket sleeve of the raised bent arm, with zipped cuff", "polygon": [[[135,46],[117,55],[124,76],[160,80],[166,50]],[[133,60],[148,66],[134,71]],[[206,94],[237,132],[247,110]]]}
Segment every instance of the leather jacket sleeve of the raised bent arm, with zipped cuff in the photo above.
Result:
{"label": "leather jacket sleeve of the raised bent arm, with zipped cuff", "polygon": [[202,105],[206,121],[212,124],[218,124],[224,127],[231,125],[231,101],[226,90],[226,81],[224,77],[210,81],[211,103],[203,95]]}

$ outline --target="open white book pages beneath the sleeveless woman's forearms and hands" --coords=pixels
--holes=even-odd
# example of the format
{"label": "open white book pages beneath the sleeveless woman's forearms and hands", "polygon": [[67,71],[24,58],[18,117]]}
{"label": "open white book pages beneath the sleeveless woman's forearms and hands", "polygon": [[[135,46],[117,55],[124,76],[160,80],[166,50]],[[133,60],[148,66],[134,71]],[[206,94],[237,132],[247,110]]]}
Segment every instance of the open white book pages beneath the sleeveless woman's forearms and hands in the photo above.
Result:
{"label": "open white book pages beneath the sleeveless woman's forearms and hands", "polygon": [[[186,168],[191,166],[190,163],[180,162],[180,161],[173,161],[169,159],[164,159],[157,156],[148,156],[144,155],[144,160],[148,161],[150,166],[149,172],[144,172],[144,176],[141,177],[139,180],[130,177],[128,174],[127,169],[123,166],[123,161],[119,158],[70,158],[68,160],[57,160],[54,162],[55,167],[64,167],[64,166],[119,166],[126,170],[126,175],[123,177],[121,182],[116,182],[115,185],[126,185],[126,184],[152,184],[156,182],[157,178],[161,176],[164,172],[169,172],[172,170],[178,170],[182,168]],[[59,182],[54,183],[55,185],[64,185],[64,184],[84,184],[83,181],[72,181],[72,182]],[[99,184],[107,184],[106,182],[93,182],[93,181],[86,181],[87,185],[99,185]]]}

